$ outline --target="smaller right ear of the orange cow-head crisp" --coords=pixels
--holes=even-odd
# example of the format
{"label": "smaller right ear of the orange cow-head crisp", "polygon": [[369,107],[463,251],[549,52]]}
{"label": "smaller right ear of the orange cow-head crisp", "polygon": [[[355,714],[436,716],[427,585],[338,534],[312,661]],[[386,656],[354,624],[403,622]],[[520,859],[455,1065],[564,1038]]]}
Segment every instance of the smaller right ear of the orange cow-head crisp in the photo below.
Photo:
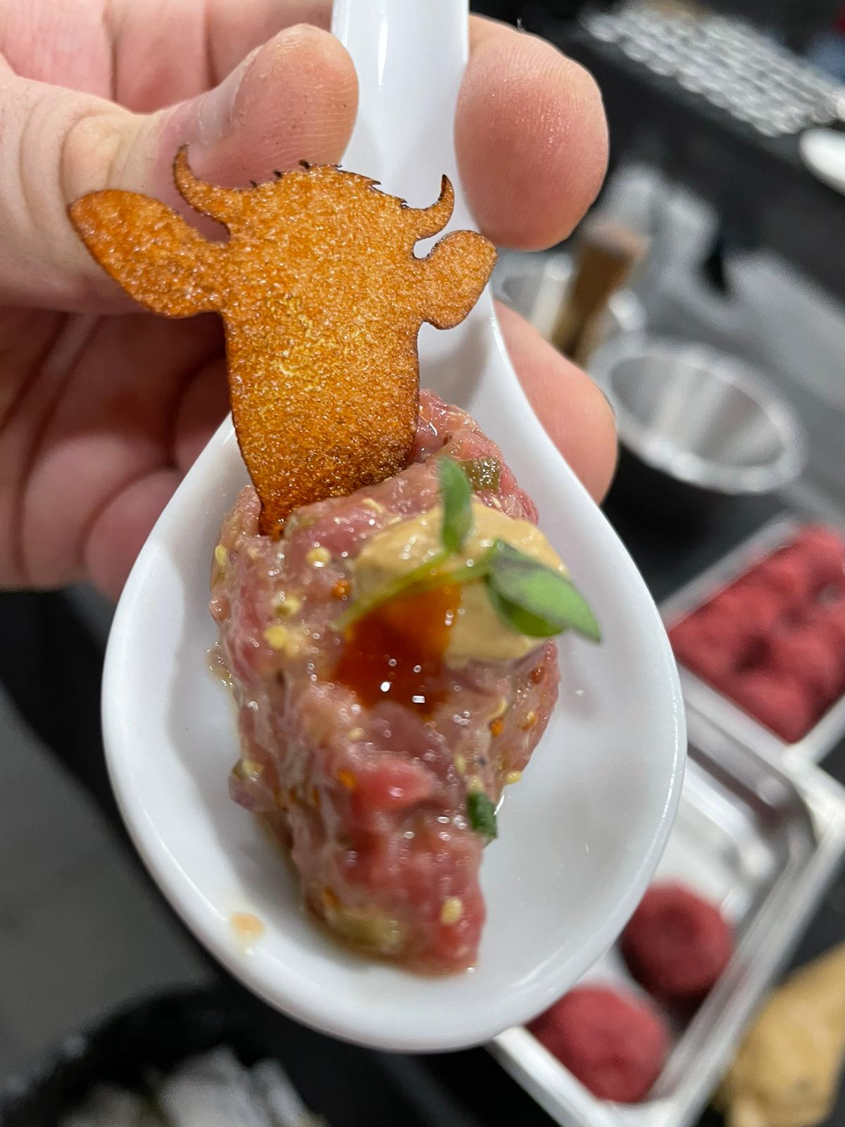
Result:
{"label": "smaller right ear of the orange cow-head crisp", "polygon": [[453,329],[481,296],[496,263],[496,248],[474,231],[455,231],[419,263],[422,320]]}

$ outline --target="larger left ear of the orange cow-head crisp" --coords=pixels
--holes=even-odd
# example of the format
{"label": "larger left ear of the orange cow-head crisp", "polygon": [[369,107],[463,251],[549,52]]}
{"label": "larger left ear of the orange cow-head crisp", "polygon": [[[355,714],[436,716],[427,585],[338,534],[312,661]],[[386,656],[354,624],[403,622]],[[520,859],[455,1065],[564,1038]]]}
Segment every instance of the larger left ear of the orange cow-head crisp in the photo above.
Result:
{"label": "larger left ear of the orange cow-head crisp", "polygon": [[142,305],[167,317],[220,307],[225,245],[208,242],[158,199],[108,189],[68,211],[94,258]]}

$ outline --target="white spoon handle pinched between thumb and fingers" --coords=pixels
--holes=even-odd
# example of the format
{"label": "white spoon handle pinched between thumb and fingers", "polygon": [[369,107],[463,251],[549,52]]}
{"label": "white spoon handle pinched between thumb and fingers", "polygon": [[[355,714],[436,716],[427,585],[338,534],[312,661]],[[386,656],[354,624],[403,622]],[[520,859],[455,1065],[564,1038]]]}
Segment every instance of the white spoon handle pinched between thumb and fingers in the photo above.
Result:
{"label": "white spoon handle pinched between thumb and fingers", "polygon": [[452,225],[466,225],[453,141],[468,56],[468,0],[335,0],[331,29],[358,74],[358,117],[344,167],[413,207],[455,185]]}

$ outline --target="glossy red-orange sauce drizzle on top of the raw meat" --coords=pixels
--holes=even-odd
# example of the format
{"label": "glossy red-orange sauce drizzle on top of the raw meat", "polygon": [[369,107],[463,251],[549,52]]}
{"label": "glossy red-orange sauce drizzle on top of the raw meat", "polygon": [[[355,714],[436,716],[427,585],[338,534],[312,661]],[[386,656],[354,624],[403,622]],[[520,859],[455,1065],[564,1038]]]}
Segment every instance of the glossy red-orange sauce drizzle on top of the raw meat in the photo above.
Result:
{"label": "glossy red-orange sauce drizzle on top of the raw meat", "polygon": [[454,585],[377,606],[349,628],[336,680],[367,707],[389,700],[430,713],[448,693],[443,656],[460,602]]}

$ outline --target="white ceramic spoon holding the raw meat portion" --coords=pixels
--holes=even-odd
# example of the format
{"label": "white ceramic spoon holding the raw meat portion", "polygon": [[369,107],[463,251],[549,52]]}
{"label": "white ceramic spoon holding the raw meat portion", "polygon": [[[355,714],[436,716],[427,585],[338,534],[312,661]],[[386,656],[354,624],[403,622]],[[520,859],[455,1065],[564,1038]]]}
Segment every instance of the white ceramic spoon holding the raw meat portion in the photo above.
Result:
{"label": "white ceramic spoon holding the raw meat portion", "polygon": [[[336,28],[362,87],[346,167],[413,205],[455,174],[452,121],[466,53],[465,0],[346,0]],[[465,211],[459,205],[459,213]],[[459,216],[459,218],[463,218]],[[550,1004],[613,942],[655,869],[685,751],[675,664],[637,569],[535,419],[484,295],[451,334],[420,337],[424,383],[466,407],[504,447],[542,526],[604,629],[562,639],[563,684],[524,781],[484,854],[488,921],[474,971],[421,977],[336,943],[295,876],[228,797],[234,712],[208,671],[210,560],[246,481],[226,421],[159,520],[114,620],[104,682],[112,781],[170,903],[270,1005],[392,1049],[483,1041]],[[263,934],[246,947],[233,913]]]}

